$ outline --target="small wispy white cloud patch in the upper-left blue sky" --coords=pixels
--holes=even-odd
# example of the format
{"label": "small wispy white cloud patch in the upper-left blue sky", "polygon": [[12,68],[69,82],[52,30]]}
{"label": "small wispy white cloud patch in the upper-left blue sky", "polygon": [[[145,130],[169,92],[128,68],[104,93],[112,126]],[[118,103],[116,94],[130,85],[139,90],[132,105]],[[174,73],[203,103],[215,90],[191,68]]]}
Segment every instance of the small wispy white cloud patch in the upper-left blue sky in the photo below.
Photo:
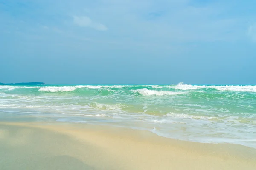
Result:
{"label": "small wispy white cloud patch in the upper-left blue sky", "polygon": [[92,21],[87,16],[80,16],[80,17],[73,16],[73,18],[74,18],[74,23],[77,24],[78,26],[81,26],[81,27],[90,27],[90,28],[94,28],[94,29],[99,30],[99,31],[106,31],[108,29],[103,24],[96,23],[96,22]]}

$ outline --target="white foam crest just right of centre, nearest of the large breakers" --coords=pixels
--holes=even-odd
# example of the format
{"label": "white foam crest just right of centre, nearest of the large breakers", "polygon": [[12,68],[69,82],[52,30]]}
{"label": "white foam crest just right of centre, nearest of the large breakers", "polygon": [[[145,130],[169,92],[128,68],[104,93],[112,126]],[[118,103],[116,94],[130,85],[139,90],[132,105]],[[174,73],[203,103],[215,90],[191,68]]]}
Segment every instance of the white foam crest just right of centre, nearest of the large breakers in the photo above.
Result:
{"label": "white foam crest just right of centre, nearest of the large breakers", "polygon": [[137,89],[137,90],[132,90],[135,93],[139,93],[143,96],[163,96],[163,95],[178,95],[178,94],[184,94],[184,92],[175,92],[175,91],[155,91],[155,90],[149,90],[147,88],[143,89]]}

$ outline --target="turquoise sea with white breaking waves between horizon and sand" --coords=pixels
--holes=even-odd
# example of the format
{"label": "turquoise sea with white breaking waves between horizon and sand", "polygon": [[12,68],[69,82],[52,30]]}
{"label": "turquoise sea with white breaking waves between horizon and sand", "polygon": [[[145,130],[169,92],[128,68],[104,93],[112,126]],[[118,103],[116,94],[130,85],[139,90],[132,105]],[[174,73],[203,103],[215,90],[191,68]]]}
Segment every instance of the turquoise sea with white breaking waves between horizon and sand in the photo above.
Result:
{"label": "turquoise sea with white breaking waves between horizon and sand", "polygon": [[0,85],[0,117],[108,124],[256,148],[255,85]]}

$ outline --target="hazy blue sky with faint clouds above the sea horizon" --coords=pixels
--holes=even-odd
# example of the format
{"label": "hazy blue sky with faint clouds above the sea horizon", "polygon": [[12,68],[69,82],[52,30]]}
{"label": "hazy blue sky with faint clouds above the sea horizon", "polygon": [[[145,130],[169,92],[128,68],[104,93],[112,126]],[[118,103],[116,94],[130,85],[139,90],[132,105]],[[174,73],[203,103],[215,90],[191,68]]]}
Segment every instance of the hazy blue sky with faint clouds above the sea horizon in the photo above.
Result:
{"label": "hazy blue sky with faint clouds above the sea horizon", "polygon": [[255,0],[0,0],[0,82],[256,84]]}

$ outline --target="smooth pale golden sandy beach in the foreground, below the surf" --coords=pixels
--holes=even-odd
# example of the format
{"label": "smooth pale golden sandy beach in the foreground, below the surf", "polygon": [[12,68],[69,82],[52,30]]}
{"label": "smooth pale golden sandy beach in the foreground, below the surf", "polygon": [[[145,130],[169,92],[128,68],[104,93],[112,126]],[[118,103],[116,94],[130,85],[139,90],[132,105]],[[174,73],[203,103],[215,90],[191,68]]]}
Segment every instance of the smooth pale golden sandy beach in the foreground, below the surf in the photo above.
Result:
{"label": "smooth pale golden sandy beach in the foreground, below the surf", "polygon": [[255,170],[256,150],[143,130],[69,123],[0,123],[1,170]]}

